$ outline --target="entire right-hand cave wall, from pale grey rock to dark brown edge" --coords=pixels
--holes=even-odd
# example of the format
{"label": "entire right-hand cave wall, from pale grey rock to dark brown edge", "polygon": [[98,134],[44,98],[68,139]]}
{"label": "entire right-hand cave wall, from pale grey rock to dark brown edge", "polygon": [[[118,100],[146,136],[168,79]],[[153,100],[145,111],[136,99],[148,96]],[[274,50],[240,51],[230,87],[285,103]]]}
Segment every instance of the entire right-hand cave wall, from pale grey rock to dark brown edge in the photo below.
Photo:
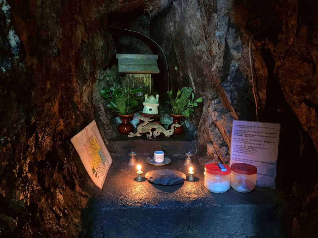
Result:
{"label": "entire right-hand cave wall, from pale grey rock to dark brown edge", "polygon": [[[277,185],[293,187],[302,204],[294,237],[316,230],[317,222],[306,223],[317,216],[317,16],[313,0],[179,0],[151,23],[172,88],[192,86],[204,98],[193,118],[198,153],[210,155],[199,156],[203,166],[229,162],[233,119],[256,119],[251,56],[259,120],[281,123]],[[310,169],[299,170],[299,161]]]}

